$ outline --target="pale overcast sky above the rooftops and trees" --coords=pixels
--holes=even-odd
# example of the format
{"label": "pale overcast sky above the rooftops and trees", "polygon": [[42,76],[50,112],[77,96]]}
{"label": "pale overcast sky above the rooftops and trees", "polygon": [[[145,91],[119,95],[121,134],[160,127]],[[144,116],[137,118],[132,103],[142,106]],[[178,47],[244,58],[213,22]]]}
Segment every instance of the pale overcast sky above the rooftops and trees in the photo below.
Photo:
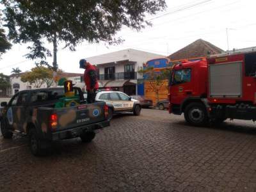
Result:
{"label": "pale overcast sky above the rooftops and trees", "polygon": [[[83,73],[79,60],[123,49],[138,49],[168,56],[202,38],[224,51],[256,46],[256,1],[253,0],[166,0],[167,8],[146,20],[152,26],[140,32],[122,28],[116,36],[125,41],[109,46],[104,42],[83,42],[76,51],[59,44],[58,65],[65,72]],[[228,41],[227,41],[228,39]],[[228,43],[227,43],[228,42]],[[35,62],[24,57],[28,45],[16,44],[0,60],[0,73],[10,75],[12,68],[22,72],[35,67]],[[51,49],[52,45],[47,45]],[[47,58],[52,63],[52,58]]]}

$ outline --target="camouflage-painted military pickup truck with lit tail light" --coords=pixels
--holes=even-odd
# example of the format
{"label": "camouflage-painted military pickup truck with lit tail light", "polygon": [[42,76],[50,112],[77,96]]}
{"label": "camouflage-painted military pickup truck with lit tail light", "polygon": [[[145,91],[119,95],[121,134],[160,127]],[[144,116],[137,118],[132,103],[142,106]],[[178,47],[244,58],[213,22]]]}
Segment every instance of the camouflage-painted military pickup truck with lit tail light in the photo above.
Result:
{"label": "camouflage-painted military pickup truck with lit tail light", "polygon": [[29,136],[29,146],[35,156],[51,147],[51,141],[80,137],[90,142],[95,130],[109,126],[105,102],[56,108],[64,96],[63,88],[24,90],[10,102],[1,102],[1,132],[10,139],[14,132]]}

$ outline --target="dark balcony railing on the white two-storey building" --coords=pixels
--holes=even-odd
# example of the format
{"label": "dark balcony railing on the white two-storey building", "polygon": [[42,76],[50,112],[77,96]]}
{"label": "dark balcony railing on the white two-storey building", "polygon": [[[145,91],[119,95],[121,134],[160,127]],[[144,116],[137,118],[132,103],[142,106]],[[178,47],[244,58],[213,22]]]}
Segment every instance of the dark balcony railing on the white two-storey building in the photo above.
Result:
{"label": "dark balcony railing on the white two-storey building", "polygon": [[137,72],[120,72],[115,74],[100,74],[99,80],[124,80],[137,79]]}

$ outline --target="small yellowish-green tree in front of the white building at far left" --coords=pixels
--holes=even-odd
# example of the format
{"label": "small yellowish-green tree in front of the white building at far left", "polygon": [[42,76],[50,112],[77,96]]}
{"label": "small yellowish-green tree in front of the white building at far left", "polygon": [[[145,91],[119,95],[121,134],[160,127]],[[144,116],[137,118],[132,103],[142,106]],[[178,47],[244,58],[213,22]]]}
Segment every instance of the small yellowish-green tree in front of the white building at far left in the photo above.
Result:
{"label": "small yellowish-green tree in front of the white building at far left", "polygon": [[20,77],[22,82],[35,84],[36,88],[40,88],[44,83],[49,88],[54,82],[52,79],[52,70],[42,66],[32,68],[31,72],[25,72]]}

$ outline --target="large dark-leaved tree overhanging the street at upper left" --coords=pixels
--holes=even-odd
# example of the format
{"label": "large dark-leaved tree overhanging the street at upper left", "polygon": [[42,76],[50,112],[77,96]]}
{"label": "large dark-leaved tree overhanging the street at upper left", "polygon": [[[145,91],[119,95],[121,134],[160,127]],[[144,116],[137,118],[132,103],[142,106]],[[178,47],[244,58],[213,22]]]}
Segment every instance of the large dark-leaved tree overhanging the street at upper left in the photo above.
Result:
{"label": "large dark-leaved tree overhanging the street at upper left", "polygon": [[2,0],[8,36],[14,43],[32,43],[27,58],[39,59],[36,64],[49,65],[47,56],[52,51],[44,45],[45,40],[52,44],[52,68],[57,70],[58,44],[75,50],[83,40],[89,43],[118,44],[121,38],[115,35],[122,26],[140,30],[150,22],[146,14],[156,14],[166,7],[164,0],[125,0],[125,1],[32,1]]}

